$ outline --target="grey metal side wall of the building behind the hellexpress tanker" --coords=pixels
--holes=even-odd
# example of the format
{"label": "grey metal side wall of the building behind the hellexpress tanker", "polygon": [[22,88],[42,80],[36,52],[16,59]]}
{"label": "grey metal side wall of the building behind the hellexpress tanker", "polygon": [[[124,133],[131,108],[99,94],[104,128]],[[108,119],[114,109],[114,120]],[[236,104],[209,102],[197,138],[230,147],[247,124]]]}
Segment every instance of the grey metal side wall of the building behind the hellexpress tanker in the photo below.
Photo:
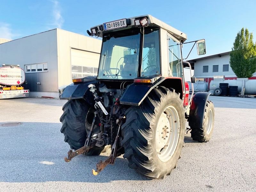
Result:
{"label": "grey metal side wall of the building behind the hellexpress tanker", "polygon": [[0,44],[0,65],[20,65],[25,70],[24,65],[35,63],[47,63],[48,71],[26,73],[25,87],[30,92],[58,92],[56,29]]}

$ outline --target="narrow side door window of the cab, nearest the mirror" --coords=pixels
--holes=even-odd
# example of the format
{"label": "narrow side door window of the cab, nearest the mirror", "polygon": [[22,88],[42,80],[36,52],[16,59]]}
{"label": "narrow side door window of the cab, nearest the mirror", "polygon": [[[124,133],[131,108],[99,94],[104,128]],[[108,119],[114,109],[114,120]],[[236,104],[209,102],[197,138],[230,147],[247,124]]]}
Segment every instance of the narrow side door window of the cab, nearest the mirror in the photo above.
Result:
{"label": "narrow side door window of the cab, nearest the mirror", "polygon": [[180,44],[174,41],[170,36],[168,37],[168,55],[170,65],[170,76],[181,77],[182,69],[181,65],[181,54]]}

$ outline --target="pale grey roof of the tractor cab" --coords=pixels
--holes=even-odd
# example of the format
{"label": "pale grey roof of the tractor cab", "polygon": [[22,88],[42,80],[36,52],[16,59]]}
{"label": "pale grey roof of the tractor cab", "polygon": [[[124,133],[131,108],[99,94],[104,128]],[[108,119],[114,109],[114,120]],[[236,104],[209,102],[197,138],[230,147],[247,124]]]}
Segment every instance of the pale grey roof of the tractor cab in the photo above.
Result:
{"label": "pale grey roof of the tractor cab", "polygon": [[[175,29],[173,27],[171,27],[170,25],[164,23],[161,20],[156,19],[155,17],[151,16],[151,15],[141,15],[141,16],[137,16],[137,17],[131,17],[131,18],[125,18],[123,20],[126,20],[126,27],[121,27],[121,28],[115,28],[115,29],[104,29],[105,24],[110,23],[103,23],[101,25],[97,25],[91,28],[91,33],[92,36],[100,36],[103,37],[103,35],[105,33],[109,33],[109,32],[115,32],[115,31],[120,31],[120,30],[125,30],[125,29],[129,29],[129,28],[138,28],[138,27],[142,27],[142,24],[140,23],[140,25],[135,25],[135,20],[143,20],[144,18],[147,18],[148,23],[147,25],[145,25],[145,27],[159,27],[162,28],[166,31],[168,31],[171,35],[175,36],[178,40],[180,41],[185,41],[187,39],[187,35],[181,31],[179,31],[178,29]],[[119,20],[116,20],[119,21]]]}

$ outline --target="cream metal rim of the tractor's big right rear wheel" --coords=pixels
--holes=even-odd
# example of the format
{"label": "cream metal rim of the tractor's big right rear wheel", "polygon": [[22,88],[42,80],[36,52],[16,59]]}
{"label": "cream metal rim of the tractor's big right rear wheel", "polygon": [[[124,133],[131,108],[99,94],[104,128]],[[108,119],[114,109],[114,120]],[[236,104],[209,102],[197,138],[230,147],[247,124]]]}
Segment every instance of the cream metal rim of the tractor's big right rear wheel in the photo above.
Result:
{"label": "cream metal rim of the tractor's big right rear wheel", "polygon": [[180,119],[173,106],[164,109],[156,127],[156,153],[158,158],[166,162],[173,156],[180,136]]}

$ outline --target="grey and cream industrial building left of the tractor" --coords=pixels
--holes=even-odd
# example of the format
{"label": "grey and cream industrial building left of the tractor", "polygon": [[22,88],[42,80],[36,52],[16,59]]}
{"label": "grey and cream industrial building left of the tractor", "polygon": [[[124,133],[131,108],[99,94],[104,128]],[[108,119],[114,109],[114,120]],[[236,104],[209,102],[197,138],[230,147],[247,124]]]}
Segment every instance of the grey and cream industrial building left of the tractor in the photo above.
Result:
{"label": "grey and cream industrial building left of the tractor", "polygon": [[52,29],[16,40],[0,39],[0,66],[25,70],[30,96],[59,98],[72,78],[97,76],[101,40]]}

